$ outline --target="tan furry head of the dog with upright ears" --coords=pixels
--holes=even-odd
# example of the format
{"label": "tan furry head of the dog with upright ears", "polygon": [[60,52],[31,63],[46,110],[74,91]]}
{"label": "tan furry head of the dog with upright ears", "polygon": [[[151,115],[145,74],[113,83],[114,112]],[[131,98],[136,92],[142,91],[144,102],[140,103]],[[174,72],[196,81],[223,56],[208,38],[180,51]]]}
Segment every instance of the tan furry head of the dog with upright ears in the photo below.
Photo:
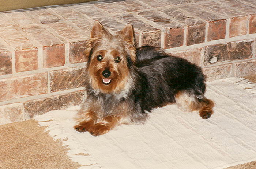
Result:
{"label": "tan furry head of the dog with upright ears", "polygon": [[112,35],[96,21],[85,56],[91,87],[103,93],[118,93],[124,89],[130,67],[136,60],[132,26],[127,25]]}

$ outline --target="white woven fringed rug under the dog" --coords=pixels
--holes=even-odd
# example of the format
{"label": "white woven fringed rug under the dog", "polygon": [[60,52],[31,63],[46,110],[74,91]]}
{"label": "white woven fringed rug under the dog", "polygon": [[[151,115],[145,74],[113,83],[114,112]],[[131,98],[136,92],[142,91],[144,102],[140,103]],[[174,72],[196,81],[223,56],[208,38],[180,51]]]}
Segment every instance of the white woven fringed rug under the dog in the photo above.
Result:
{"label": "white woven fringed rug under the dog", "polygon": [[256,160],[255,86],[241,78],[208,82],[206,96],[216,103],[209,119],[170,105],[154,109],[144,125],[99,137],[73,129],[78,106],[34,119],[71,149],[73,161],[89,165],[80,169],[222,169]]}

